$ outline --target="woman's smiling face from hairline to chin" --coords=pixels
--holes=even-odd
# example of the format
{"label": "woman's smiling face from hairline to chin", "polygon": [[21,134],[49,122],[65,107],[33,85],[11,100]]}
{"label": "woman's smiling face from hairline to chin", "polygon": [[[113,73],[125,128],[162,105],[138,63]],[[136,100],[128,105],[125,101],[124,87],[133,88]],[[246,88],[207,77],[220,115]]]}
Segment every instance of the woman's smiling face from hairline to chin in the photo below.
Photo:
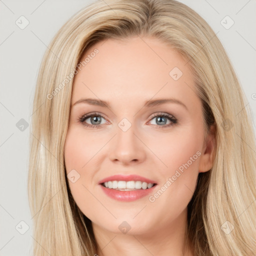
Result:
{"label": "woman's smiling face from hairline to chin", "polygon": [[85,58],[64,147],[76,204],[97,230],[175,230],[185,222],[198,172],[212,166],[189,65],[149,37],[100,41]]}

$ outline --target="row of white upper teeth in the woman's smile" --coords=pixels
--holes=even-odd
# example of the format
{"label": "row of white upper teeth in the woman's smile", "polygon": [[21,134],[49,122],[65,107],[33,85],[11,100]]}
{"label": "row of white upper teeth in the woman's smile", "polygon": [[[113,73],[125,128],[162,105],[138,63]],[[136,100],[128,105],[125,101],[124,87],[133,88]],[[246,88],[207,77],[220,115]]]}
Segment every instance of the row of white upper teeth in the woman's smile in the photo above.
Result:
{"label": "row of white upper teeth in the woman's smile", "polygon": [[113,181],[104,182],[103,185],[108,188],[128,191],[130,189],[136,190],[141,188],[142,189],[150,188],[153,186],[153,183],[146,183],[139,180],[136,180],[136,181],[113,180]]}

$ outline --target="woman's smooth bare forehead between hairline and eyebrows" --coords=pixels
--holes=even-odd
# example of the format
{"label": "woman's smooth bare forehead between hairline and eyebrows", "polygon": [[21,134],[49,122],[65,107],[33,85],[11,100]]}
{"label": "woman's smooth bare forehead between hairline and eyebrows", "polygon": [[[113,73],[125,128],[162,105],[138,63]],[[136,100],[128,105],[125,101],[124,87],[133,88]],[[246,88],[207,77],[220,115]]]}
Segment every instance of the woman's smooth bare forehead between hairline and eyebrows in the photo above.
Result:
{"label": "woman's smooth bare forehead between hairline and eyebrows", "polygon": [[[93,52],[97,52],[96,54]],[[82,97],[128,102],[172,96],[193,100],[190,67],[170,45],[156,38],[106,39],[83,54],[72,103]]]}

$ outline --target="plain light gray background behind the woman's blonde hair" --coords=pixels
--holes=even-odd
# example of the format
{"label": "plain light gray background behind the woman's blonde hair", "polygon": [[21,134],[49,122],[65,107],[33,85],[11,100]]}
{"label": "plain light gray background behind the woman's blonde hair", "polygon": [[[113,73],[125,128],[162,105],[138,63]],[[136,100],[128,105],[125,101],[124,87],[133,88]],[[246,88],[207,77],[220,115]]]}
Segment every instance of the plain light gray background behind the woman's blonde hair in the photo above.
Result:
{"label": "plain light gray background behind the woman's blonde hair", "polygon": [[[256,134],[256,1],[180,1],[197,11],[218,32],[246,94],[245,107],[253,111]],[[0,0],[0,255],[28,255],[31,251],[34,239],[27,199],[27,172],[36,76],[51,38],[71,15],[90,2]],[[15,23],[21,15],[29,21],[24,29]],[[229,29],[223,25],[229,26],[230,19],[224,19],[222,24],[226,24],[221,24],[226,15],[234,21]],[[21,118],[28,124],[23,131],[21,126],[16,126],[24,122]]]}

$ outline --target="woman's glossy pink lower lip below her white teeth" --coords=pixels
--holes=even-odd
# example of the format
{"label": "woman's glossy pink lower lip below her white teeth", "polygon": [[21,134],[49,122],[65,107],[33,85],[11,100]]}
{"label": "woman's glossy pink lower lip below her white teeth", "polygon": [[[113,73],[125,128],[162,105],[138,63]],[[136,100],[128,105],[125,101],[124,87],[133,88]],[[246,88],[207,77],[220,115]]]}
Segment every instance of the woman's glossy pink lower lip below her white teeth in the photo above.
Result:
{"label": "woman's glossy pink lower lip below her white teeth", "polygon": [[156,185],[147,188],[147,189],[138,189],[138,190],[130,190],[130,191],[122,191],[116,190],[113,188],[107,188],[100,185],[103,189],[104,193],[109,197],[119,200],[119,201],[134,201],[141,197],[144,197],[152,192]]}

